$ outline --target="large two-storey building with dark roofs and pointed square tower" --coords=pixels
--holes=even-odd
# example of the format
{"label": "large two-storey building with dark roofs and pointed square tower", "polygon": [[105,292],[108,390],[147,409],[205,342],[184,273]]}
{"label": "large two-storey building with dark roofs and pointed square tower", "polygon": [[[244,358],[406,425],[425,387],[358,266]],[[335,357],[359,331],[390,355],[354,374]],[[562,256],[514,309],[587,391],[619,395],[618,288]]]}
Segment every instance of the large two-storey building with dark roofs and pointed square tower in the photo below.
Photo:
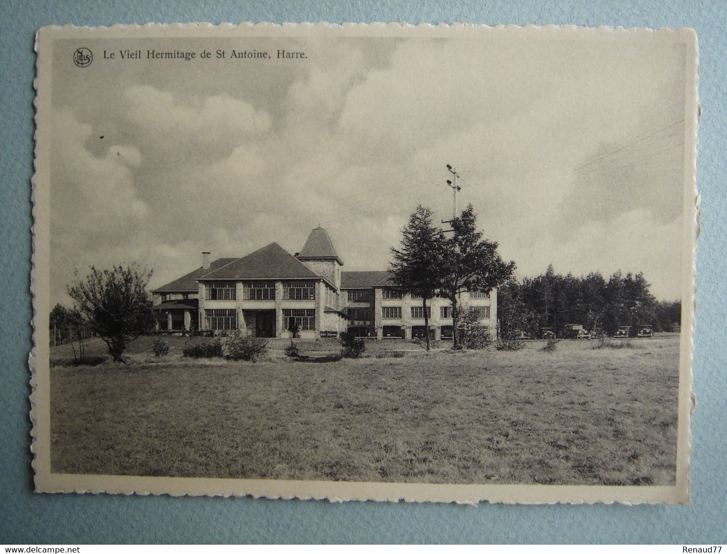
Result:
{"label": "large two-storey building with dark roofs and pointed square tower", "polygon": [[[370,338],[425,336],[421,298],[402,294],[385,271],[343,272],[343,261],[322,227],[310,232],[294,255],[277,243],[242,258],[209,261],[153,290],[160,330],[241,330],[257,337],[335,336],[348,330]],[[459,304],[476,311],[494,333],[497,290],[462,293]],[[430,334],[451,339],[452,308],[446,298],[427,301]]]}

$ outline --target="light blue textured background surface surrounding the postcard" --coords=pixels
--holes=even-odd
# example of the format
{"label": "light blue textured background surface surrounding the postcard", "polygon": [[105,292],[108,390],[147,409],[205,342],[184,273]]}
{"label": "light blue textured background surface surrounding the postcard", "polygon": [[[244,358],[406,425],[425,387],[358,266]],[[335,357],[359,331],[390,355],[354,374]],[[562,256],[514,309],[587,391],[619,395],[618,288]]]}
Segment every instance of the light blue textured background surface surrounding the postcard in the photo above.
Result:
{"label": "light blue textured background surface surrounding the postcard", "polygon": [[[566,0],[1,0],[0,542],[726,542],[727,4]],[[31,346],[31,187],[35,31],[43,25],[240,21],[406,21],[695,28],[702,122],[692,502],[689,506],[377,504],[252,498],[34,494],[27,359]]]}

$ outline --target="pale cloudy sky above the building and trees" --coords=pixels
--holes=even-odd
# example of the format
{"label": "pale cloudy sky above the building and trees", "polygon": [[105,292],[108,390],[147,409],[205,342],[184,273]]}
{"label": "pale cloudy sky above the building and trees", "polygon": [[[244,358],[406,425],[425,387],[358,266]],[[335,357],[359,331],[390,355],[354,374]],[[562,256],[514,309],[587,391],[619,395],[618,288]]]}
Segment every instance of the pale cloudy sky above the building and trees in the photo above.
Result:
{"label": "pale cloudy sky above the building and trees", "polygon": [[[322,224],[344,269],[385,269],[418,203],[459,208],[535,276],[643,271],[680,296],[684,52],[522,33],[459,39],[67,41],[54,65],[52,302],[91,264],[152,287]],[[72,53],[94,52],[88,68]],[[305,60],[103,60],[103,50]],[[119,57],[119,54],[116,54]]]}

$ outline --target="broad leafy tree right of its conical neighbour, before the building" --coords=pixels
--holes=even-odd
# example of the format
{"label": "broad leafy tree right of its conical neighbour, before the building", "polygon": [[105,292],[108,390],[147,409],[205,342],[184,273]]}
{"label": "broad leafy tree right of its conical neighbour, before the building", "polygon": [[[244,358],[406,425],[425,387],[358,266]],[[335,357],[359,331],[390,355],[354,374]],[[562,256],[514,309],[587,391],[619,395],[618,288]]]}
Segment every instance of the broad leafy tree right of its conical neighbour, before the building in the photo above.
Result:
{"label": "broad leafy tree right of its conical neighbour, before the building", "polygon": [[[465,290],[489,293],[512,277],[515,262],[505,263],[497,253],[497,243],[482,238],[477,230],[477,216],[472,204],[451,221],[453,236],[444,240],[441,295],[452,305],[452,325],[457,329],[458,296]],[[454,349],[459,338],[454,333]]]}

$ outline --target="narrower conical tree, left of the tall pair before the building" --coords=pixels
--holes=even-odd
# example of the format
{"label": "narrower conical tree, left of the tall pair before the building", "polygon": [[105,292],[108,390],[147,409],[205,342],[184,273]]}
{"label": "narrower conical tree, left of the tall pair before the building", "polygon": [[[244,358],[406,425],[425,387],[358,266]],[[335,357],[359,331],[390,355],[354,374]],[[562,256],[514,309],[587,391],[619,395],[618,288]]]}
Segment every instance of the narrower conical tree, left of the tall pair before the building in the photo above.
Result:
{"label": "narrower conical tree, left of the tall pair before the building", "polygon": [[401,235],[401,249],[391,249],[393,261],[389,272],[393,284],[404,293],[422,297],[429,350],[427,301],[437,296],[442,285],[444,239],[432,224],[432,211],[422,205],[409,216],[409,224],[401,230]]}

